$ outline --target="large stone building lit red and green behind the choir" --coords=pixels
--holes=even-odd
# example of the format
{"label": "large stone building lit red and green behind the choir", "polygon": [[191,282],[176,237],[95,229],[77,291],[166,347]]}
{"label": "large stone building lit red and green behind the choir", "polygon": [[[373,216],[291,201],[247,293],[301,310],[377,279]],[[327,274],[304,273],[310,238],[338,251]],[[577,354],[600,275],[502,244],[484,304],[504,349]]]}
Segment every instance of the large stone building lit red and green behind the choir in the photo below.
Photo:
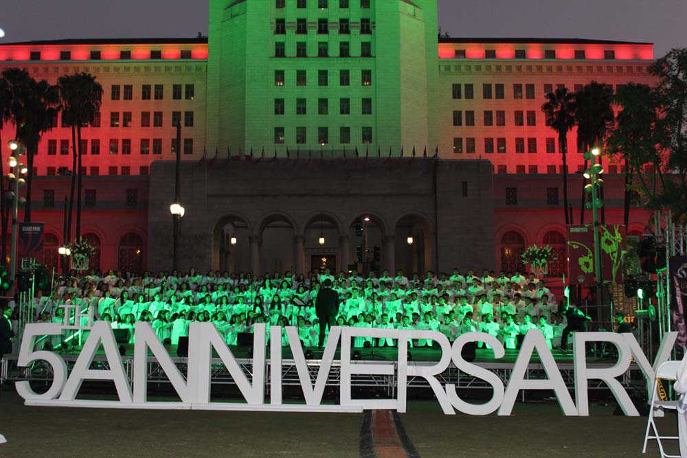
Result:
{"label": "large stone building lit red and green behind the choir", "polygon": [[[81,170],[83,233],[100,247],[91,264],[101,268],[170,267],[169,167],[177,151],[188,211],[183,268],[299,271],[325,255],[346,268],[357,258],[363,214],[376,231],[369,248],[381,250],[380,267],[436,267],[438,254],[440,268],[515,269],[527,244],[562,249],[561,154],[541,111],[545,93],[592,81],[614,89],[652,84],[653,46],[436,32],[435,0],[210,0],[209,38],[0,43],[0,70],[25,68],[53,84],[85,71],[102,84],[100,116],[83,129]],[[65,239],[72,147],[61,115],[54,125],[34,160],[32,203],[33,219],[46,222],[49,265]],[[6,157],[14,126],[0,133]],[[579,222],[583,151],[575,130],[568,144]],[[429,159],[435,153],[436,162]],[[435,166],[453,176],[438,183],[438,208],[396,198],[433,189],[426,169]],[[336,170],[343,180],[335,180]],[[478,170],[477,181],[461,170]],[[622,222],[622,171],[622,164],[606,165],[605,216],[613,224]],[[323,177],[337,185],[326,192]],[[337,192],[345,202],[333,198]],[[465,205],[475,195],[480,207],[440,217],[453,201]],[[372,206],[372,196],[383,199]],[[491,227],[454,222],[474,222],[471,211]],[[629,229],[642,231],[646,219],[633,209]],[[245,238],[232,245],[236,233]],[[409,252],[402,242],[413,233]],[[447,240],[433,240],[437,233]],[[324,246],[313,242],[319,235]],[[451,238],[455,251],[442,256]]]}

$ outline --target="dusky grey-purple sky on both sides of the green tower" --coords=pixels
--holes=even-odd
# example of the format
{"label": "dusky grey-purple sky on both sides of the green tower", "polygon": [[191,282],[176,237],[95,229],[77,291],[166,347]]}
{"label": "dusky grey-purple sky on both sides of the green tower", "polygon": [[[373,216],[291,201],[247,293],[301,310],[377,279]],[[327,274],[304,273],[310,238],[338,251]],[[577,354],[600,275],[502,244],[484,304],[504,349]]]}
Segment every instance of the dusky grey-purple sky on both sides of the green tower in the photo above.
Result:
{"label": "dusky grey-purple sky on both sides of the green tower", "polygon": [[[655,43],[656,57],[687,47],[687,0],[438,2],[442,32],[454,37],[642,41]],[[0,43],[190,37],[207,34],[207,0],[0,0],[0,28]]]}

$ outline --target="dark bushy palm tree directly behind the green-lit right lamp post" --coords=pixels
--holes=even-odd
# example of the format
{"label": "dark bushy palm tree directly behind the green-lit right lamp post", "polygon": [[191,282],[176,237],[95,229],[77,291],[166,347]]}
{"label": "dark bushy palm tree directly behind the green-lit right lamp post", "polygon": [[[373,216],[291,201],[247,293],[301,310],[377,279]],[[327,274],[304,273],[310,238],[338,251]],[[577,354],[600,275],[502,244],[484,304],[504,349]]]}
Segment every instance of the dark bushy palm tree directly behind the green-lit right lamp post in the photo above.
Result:
{"label": "dark bushy palm tree directly behind the green-lit right lamp post", "polygon": [[[577,144],[583,151],[589,151],[594,146],[603,146],[609,126],[613,125],[613,89],[605,84],[592,81],[582,91],[575,94],[575,119],[577,122]],[[599,157],[601,161],[601,157]],[[587,169],[585,159],[585,170]],[[585,194],[583,180],[582,209],[580,223],[585,224]],[[601,188],[603,198],[603,188]],[[601,209],[601,222],[605,222],[605,211]]]}

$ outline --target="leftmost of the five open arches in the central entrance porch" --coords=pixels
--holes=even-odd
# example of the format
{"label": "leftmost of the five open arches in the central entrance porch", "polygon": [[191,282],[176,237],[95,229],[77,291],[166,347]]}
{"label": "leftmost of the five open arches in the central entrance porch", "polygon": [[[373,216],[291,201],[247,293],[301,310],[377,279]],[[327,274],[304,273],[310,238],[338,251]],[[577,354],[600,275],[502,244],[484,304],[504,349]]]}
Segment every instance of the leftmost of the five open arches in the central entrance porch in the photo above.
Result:
{"label": "leftmost of the five open arches in the central entrance porch", "polygon": [[221,218],[213,231],[213,270],[251,271],[251,233],[249,222],[243,216],[230,214]]}

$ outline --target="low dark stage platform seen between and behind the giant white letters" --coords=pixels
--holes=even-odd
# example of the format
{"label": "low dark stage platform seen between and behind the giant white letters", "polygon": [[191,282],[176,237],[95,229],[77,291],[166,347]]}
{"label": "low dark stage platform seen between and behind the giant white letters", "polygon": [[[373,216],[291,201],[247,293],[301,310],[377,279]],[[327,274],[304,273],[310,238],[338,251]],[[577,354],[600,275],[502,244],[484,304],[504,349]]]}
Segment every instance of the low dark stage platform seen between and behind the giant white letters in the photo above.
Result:
{"label": "low dark stage platform seen between and behind the giant white letters", "polygon": [[[177,356],[177,347],[174,345],[166,345],[168,353],[172,357],[172,361],[181,372],[185,374],[188,367],[188,358],[184,356]],[[254,361],[251,358],[251,348],[242,346],[229,346],[232,350],[232,354],[236,358],[238,364],[243,369],[244,374],[249,378],[253,372]],[[61,353],[60,355],[67,362],[67,370],[71,371],[71,367],[74,366],[76,359],[78,357],[78,350],[75,349],[74,352]],[[133,345],[125,345],[123,347],[124,356],[122,356],[122,362],[124,363],[124,369],[129,378],[130,382],[133,382]],[[310,347],[305,348],[304,352],[306,356],[311,356],[306,358],[306,363],[308,365],[308,370],[310,372],[311,382],[314,384],[319,373],[319,368],[322,363],[322,348]],[[355,352],[359,352],[359,358]],[[501,378],[504,385],[508,384],[510,376],[513,372],[513,366],[515,365],[515,360],[517,358],[519,350],[506,350],[506,355],[504,358],[499,358],[495,360],[493,358],[493,352],[486,349],[477,349],[475,352],[475,360],[473,364],[488,369],[494,372]],[[574,387],[574,367],[572,362],[572,352],[563,354],[557,350],[553,351],[554,359],[556,360],[556,365],[561,371],[563,380],[567,387],[572,389]],[[408,365],[433,365],[440,358],[440,350],[433,349],[431,347],[414,347],[409,349],[409,361]],[[9,383],[17,380],[30,380],[34,382],[49,382],[52,380],[52,371],[49,365],[43,363],[36,363],[32,367],[19,368],[16,367],[16,354],[5,355],[1,361],[0,367],[0,382]],[[396,394],[396,389],[398,387],[398,380],[396,380],[396,365],[398,365],[398,350],[394,347],[374,347],[374,348],[353,348],[351,363],[353,365],[369,365],[369,364],[381,364],[381,365],[393,365],[394,375],[361,375],[353,374],[351,385],[354,388],[366,388],[374,389],[380,392],[380,394],[385,394],[393,398]],[[588,367],[611,367],[616,363],[616,359],[609,358],[598,358],[594,356],[587,357]],[[102,352],[98,353],[93,359],[93,368],[97,369],[101,367],[106,369],[108,367],[106,358]],[[232,376],[229,371],[222,363],[222,361],[213,354],[212,365],[211,365],[211,382],[212,385],[235,385]],[[267,346],[267,357],[265,359],[265,391],[269,393],[269,377],[271,376],[271,360],[269,358],[269,345]],[[536,352],[532,355],[530,362],[528,363],[528,368],[526,371],[526,378],[528,379],[543,379],[547,378],[543,367],[539,363],[539,358]],[[147,379],[149,383],[153,384],[168,384],[169,380],[161,369],[157,359],[152,355],[148,354],[148,374]],[[438,380],[442,385],[447,383],[452,383],[455,385],[456,389],[490,389],[491,385],[484,382],[480,378],[476,378],[471,374],[466,374],[463,371],[459,371],[453,363],[444,370],[442,374],[438,376]],[[333,365],[329,371],[327,386],[330,389],[337,389],[341,381],[341,363],[340,363],[340,353],[337,349]],[[620,378],[622,385],[624,387],[646,387],[644,378],[640,373],[639,368],[635,363],[632,363],[630,369]],[[293,361],[293,356],[289,347],[282,348],[282,385],[284,388],[293,386],[300,387],[300,379],[297,374],[295,363]],[[429,389],[429,385],[424,378],[418,377],[408,377],[407,387],[409,389]],[[589,380],[589,389],[607,389],[605,383],[599,380]],[[521,399],[525,400],[524,391],[521,392]]]}

